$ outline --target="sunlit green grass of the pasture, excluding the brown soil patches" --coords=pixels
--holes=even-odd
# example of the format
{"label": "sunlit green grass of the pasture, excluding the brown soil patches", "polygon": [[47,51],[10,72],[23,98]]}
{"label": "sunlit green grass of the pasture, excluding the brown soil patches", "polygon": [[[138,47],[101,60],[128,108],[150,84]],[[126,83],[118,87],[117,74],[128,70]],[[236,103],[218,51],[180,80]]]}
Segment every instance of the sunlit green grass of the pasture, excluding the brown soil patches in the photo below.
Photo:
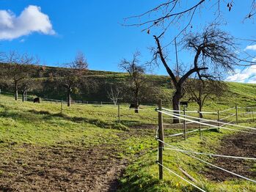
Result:
{"label": "sunlit green grass of the pasture, excluding the brown soil patches", "polygon": [[[235,85],[234,89],[239,88]],[[253,95],[247,93],[246,97],[253,98]],[[233,99],[230,99],[230,102],[233,102]],[[209,102],[204,110],[224,110],[232,107],[233,104],[216,105],[216,103]],[[239,104],[246,106],[246,103]],[[62,107],[62,114],[60,114],[60,103],[22,103],[13,100],[12,97],[1,95],[1,152],[7,150],[12,143],[85,148],[107,144],[120,149],[117,154],[118,158],[133,160],[120,179],[120,191],[196,191],[194,187],[173,174],[169,174],[166,170],[164,171],[164,180],[158,180],[158,165],[156,164],[158,142],[155,139],[156,129],[153,129],[157,128],[158,123],[158,113],[154,110],[156,106],[141,106],[142,110],[139,111],[139,114],[135,114],[134,110],[128,108],[128,105],[122,105],[120,112],[122,125],[118,124],[117,106],[114,105],[73,104],[70,108],[65,105]],[[191,103],[188,110],[195,108],[195,103]],[[234,110],[231,112],[233,113]],[[191,115],[198,117],[198,114]],[[170,117],[166,115],[164,117],[165,123],[172,121]],[[205,115],[205,118],[216,119],[216,115]],[[147,124],[153,124],[155,127],[150,130],[133,128]],[[255,127],[254,122],[244,121],[243,125]],[[165,127],[165,141],[181,149],[209,153],[216,152],[224,136],[234,133],[223,129],[219,133],[205,130],[202,132],[202,139],[200,139],[199,133],[195,132],[188,135],[187,141],[184,141],[183,136],[168,137],[173,133],[181,132],[183,132],[182,127]],[[139,152],[145,152],[145,155],[138,156]],[[200,156],[200,158],[208,162],[213,161],[211,157]],[[226,182],[208,180],[203,174],[200,174],[201,170],[206,169],[205,164],[180,152],[165,149],[164,165],[183,177],[179,168],[186,170],[197,180],[195,184],[204,188],[205,191],[256,191],[256,186],[252,182],[244,180],[235,179]],[[252,168],[252,171],[255,171],[255,167]]]}

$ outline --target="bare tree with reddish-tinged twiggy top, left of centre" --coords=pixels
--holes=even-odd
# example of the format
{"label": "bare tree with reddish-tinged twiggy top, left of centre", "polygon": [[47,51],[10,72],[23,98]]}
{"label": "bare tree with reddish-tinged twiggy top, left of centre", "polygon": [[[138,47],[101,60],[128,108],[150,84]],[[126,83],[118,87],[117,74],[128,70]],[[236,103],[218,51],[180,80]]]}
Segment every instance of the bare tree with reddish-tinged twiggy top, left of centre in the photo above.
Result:
{"label": "bare tree with reddish-tinged twiggy top, left of centre", "polygon": [[68,64],[68,68],[58,74],[58,80],[67,92],[67,106],[70,106],[71,103],[71,93],[79,92],[79,87],[84,82],[87,71],[87,59],[84,53],[78,52],[75,60]]}

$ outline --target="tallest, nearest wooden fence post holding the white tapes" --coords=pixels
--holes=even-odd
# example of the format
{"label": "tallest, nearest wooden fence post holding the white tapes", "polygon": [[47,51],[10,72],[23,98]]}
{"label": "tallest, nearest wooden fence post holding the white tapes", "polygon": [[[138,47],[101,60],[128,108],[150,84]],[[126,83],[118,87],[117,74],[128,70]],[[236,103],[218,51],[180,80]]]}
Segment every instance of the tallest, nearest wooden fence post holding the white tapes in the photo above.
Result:
{"label": "tallest, nearest wooden fence post holding the white tapes", "polygon": [[[158,163],[159,163],[159,180],[163,180],[163,149],[164,149],[164,127],[163,127],[163,114],[162,100],[158,103]],[[160,141],[159,141],[160,140]]]}

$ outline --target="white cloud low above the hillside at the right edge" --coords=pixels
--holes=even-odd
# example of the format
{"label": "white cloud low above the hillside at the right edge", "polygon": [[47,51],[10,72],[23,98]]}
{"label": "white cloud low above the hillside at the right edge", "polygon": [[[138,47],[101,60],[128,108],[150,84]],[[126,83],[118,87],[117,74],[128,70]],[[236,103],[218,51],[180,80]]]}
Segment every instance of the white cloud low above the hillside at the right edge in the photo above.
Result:
{"label": "white cloud low above the hillside at the right edge", "polygon": [[252,65],[244,70],[235,70],[233,75],[226,78],[226,81],[241,82],[241,83],[256,83],[256,66]]}

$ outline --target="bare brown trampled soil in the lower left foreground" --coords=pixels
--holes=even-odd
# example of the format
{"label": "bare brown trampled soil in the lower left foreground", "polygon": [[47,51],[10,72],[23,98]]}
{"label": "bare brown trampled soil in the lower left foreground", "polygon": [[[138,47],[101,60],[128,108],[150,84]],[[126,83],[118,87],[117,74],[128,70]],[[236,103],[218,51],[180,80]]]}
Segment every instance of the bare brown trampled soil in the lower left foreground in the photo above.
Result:
{"label": "bare brown trampled soil in the lower left foreground", "polygon": [[0,191],[116,191],[125,168],[116,148],[12,145],[0,153]]}

